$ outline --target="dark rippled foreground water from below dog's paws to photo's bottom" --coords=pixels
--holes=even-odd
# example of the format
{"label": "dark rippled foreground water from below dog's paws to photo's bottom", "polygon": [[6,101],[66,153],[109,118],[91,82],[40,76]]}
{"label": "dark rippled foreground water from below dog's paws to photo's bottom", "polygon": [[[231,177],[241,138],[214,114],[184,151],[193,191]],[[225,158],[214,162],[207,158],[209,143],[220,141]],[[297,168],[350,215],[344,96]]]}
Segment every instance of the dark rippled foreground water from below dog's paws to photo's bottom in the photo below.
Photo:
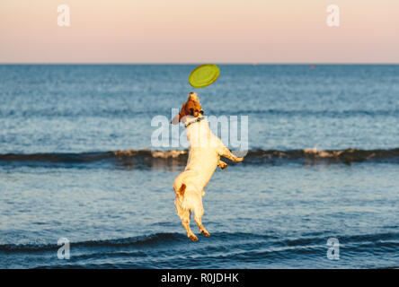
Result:
{"label": "dark rippled foreground water from below dog's paws to photo's bottom", "polygon": [[[398,232],[333,234],[340,240],[340,267],[397,268]],[[337,267],[325,258],[331,231],[280,234],[214,232],[193,244],[184,233],[70,242],[59,260],[56,244],[0,244],[3,268],[259,268]],[[325,258],[325,260],[320,260]],[[2,260],[4,259],[4,260]],[[318,262],[318,265],[315,265]]]}

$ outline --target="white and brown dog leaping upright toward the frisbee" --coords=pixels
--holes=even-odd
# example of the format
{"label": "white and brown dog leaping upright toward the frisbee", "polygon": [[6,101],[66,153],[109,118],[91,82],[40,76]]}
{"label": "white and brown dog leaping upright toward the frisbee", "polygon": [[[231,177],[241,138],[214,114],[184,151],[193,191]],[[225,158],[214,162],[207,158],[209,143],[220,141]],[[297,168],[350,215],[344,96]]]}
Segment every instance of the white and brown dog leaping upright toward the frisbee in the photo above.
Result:
{"label": "white and brown dog leaping upright toward the frisbee", "polygon": [[171,121],[173,125],[178,125],[180,122],[184,124],[190,146],[186,168],[174,179],[173,189],[176,194],[174,205],[177,215],[182,219],[182,226],[191,241],[198,240],[190,228],[191,213],[194,214],[194,220],[201,234],[210,236],[201,220],[204,214],[202,196],[205,195],[204,188],[208,185],[217,166],[222,170],[227,167],[226,162],[220,161],[220,157],[226,157],[235,162],[244,161],[244,158],[236,157],[231,153],[212,133],[208,120],[203,114],[197,93],[191,92],[187,101],[182,104],[179,114]]}

